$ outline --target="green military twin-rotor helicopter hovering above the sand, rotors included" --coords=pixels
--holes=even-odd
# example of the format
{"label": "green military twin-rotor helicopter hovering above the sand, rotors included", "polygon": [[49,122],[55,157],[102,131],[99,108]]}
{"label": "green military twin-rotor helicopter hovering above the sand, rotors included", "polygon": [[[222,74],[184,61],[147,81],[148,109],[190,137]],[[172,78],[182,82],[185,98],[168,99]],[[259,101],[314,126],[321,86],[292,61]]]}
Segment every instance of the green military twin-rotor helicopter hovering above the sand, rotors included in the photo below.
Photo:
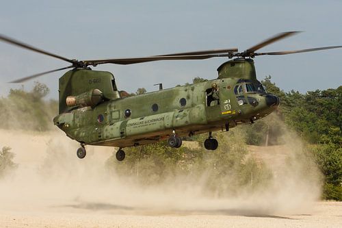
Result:
{"label": "green military twin-rotor helicopter hovering above the sand, rotors included", "polygon": [[[36,47],[31,47],[7,36],[0,40],[36,51],[71,65],[24,77],[23,82],[68,68],[59,81],[59,112],[54,124],[66,135],[77,140],[81,147],[77,156],[86,156],[85,146],[119,147],[116,158],[124,160],[124,147],[168,140],[170,147],[181,147],[183,136],[209,132],[205,148],[215,150],[218,141],[212,131],[228,131],[239,124],[254,123],[267,116],[280,104],[276,95],[268,93],[257,80],[253,58],[257,55],[287,55],[308,51],[341,48],[319,47],[296,51],[255,51],[291,36],[298,31],[288,31],[264,40],[243,52],[233,49],[215,49],[154,55],[141,58],[114,58],[108,60],[70,60]],[[116,87],[114,75],[105,71],[92,71],[89,66],[98,64],[137,64],[159,60],[204,60],[208,58],[233,58],[218,67],[218,78],[196,84],[177,86],[148,92],[133,97],[122,96]]]}

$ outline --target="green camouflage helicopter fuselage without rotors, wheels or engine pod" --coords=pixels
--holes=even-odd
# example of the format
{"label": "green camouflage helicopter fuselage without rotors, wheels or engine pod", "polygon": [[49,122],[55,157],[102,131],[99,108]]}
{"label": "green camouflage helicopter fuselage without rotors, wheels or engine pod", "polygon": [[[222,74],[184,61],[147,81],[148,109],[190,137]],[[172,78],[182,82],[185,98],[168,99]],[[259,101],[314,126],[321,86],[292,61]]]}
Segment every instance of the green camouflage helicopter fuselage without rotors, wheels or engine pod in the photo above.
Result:
{"label": "green camouflage helicopter fuselage without rotors, wheels or engine pod", "polygon": [[[172,131],[191,136],[228,130],[278,106],[278,98],[257,81],[252,60],[228,61],[218,72],[218,79],[121,98],[111,73],[74,69],[60,78],[60,114],[54,123],[83,144],[131,147],[166,140]],[[210,95],[213,83],[218,85],[219,100]],[[66,105],[68,96],[92,89],[103,92],[101,102]]]}

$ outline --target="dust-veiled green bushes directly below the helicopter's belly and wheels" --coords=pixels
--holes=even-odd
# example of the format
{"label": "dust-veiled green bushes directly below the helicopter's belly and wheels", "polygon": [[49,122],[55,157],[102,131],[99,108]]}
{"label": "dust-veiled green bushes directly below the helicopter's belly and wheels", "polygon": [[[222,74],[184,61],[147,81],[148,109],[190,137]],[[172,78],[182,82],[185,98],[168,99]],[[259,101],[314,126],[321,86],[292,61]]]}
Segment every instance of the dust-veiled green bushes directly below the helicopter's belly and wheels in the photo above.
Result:
{"label": "dust-veiled green bushes directly below the helicopter's belly and wheels", "polygon": [[[216,151],[204,149],[202,142],[208,136],[200,134],[196,136],[199,147],[183,145],[172,149],[166,142],[147,144],[127,148],[127,157],[123,162],[117,162],[113,154],[106,164],[119,176],[129,175],[146,187],[179,177],[194,185],[202,181],[205,183],[205,193],[211,196],[239,194],[242,188],[257,190],[261,181],[266,183],[272,179],[267,168],[257,164],[252,157],[245,162],[248,150],[241,131],[232,129],[228,134],[213,135],[220,142]],[[254,181],[251,180],[251,173]]]}

